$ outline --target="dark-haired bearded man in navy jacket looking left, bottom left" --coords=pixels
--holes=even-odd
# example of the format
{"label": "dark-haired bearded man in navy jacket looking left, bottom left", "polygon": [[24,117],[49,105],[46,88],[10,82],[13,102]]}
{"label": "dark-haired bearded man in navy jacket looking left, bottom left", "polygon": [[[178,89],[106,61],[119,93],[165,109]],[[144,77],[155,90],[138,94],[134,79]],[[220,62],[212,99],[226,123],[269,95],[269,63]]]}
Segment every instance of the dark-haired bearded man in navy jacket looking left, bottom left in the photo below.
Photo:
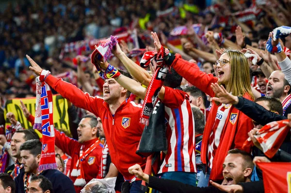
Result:
{"label": "dark-haired bearded man in navy jacket looking left, bottom left", "polygon": [[52,183],[55,193],[75,193],[72,180],[58,170],[38,171],[38,164],[41,158],[42,143],[40,140],[28,140],[20,146],[24,172],[15,179],[16,193],[27,193],[33,175],[43,175]]}

